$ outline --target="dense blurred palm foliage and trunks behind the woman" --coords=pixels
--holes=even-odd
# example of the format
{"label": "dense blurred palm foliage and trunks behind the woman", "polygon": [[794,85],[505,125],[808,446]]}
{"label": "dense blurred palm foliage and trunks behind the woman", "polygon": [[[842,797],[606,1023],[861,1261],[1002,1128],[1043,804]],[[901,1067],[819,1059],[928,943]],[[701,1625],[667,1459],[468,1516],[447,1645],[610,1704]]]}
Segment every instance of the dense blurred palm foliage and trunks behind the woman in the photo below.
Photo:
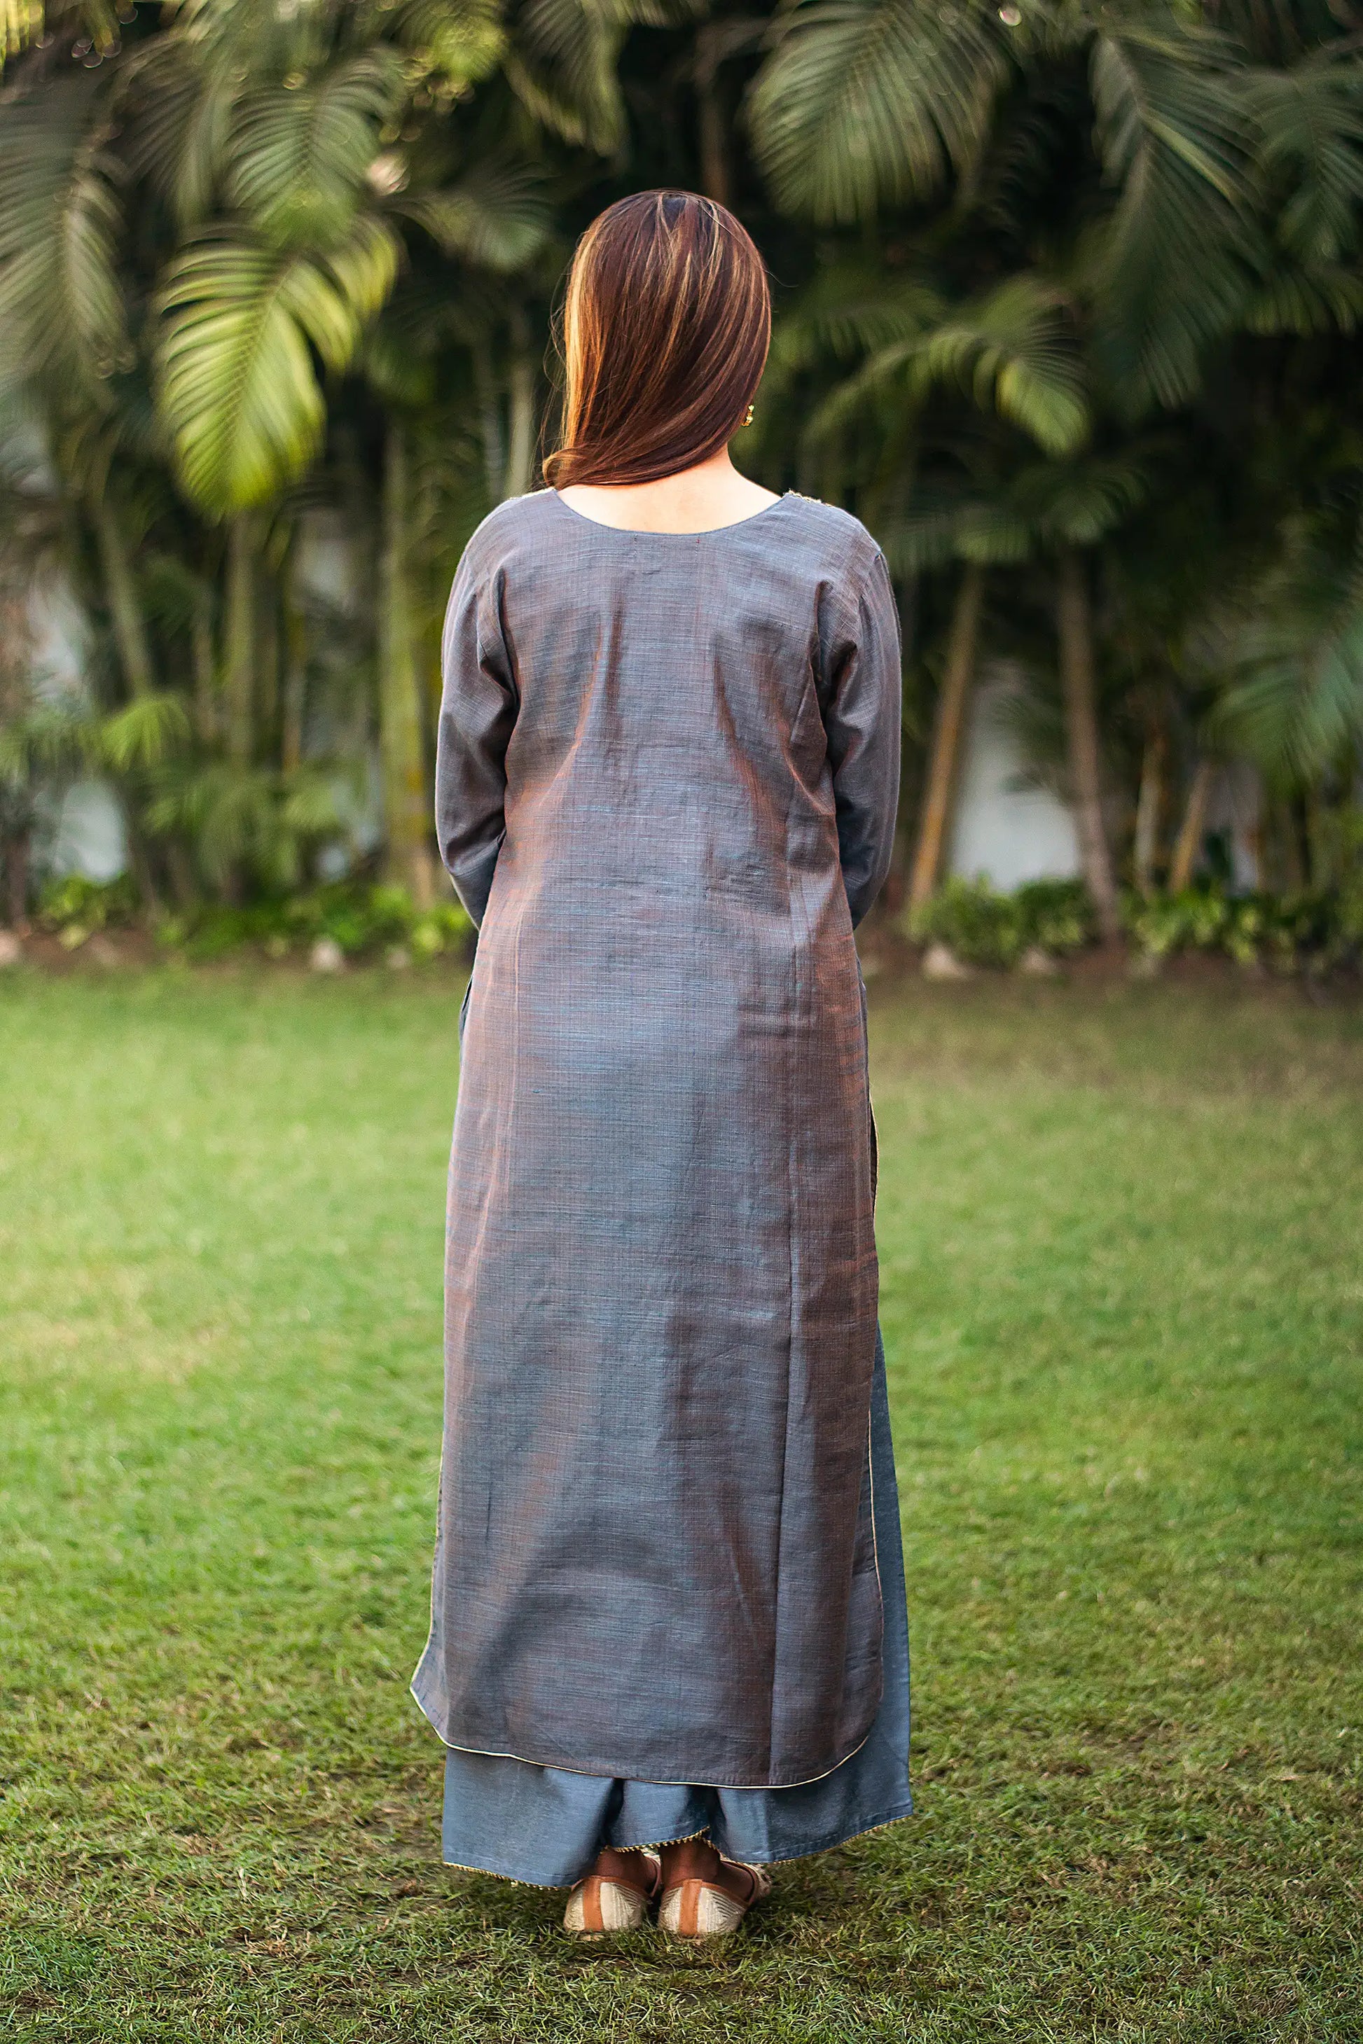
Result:
{"label": "dense blurred palm foliage and trunks behind the woman", "polygon": [[[1089,934],[1202,926],[1208,791],[1249,760],[1249,924],[1357,957],[1361,27],[1347,0],[0,0],[2,914],[92,773],[141,914],[341,871],[384,883],[380,922],[443,897],[454,564],[539,486],[574,237],[678,184],[772,272],[740,460],[854,509],[897,576],[889,912],[958,936],[952,787],[1003,656]],[[35,656],[53,576],[80,689]]]}

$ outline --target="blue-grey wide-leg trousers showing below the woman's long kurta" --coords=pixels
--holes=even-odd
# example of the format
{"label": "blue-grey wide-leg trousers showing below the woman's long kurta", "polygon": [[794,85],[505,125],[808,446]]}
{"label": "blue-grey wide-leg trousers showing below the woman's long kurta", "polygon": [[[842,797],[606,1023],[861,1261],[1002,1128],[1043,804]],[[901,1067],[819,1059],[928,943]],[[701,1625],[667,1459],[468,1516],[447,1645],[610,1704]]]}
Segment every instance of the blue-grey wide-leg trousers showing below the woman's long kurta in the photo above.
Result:
{"label": "blue-grey wide-leg trousers showing below the woman's long kurta", "polygon": [[885,1688],[866,1739],[840,1768],[799,1788],[707,1788],[621,1782],[445,1748],[443,1856],[452,1866],[533,1887],[570,1887],[603,1846],[660,1846],[707,1831],[730,1860],[770,1864],[828,1852],[858,1831],[907,1817],[909,1621],[895,1447],[877,1349],[871,1386],[875,1537],[885,1594]]}

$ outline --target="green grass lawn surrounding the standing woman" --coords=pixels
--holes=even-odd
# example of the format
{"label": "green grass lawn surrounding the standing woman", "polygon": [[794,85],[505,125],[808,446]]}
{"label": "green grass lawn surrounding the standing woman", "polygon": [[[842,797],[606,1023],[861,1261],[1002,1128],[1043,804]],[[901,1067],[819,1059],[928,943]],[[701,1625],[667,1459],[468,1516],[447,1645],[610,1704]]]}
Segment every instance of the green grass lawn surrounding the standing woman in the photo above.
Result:
{"label": "green grass lawn surrounding the standing woman", "polygon": [[458,985],[0,985],[0,2036],[1363,2034],[1363,1024],[873,983],[918,1815],[725,1952],[439,1864]]}

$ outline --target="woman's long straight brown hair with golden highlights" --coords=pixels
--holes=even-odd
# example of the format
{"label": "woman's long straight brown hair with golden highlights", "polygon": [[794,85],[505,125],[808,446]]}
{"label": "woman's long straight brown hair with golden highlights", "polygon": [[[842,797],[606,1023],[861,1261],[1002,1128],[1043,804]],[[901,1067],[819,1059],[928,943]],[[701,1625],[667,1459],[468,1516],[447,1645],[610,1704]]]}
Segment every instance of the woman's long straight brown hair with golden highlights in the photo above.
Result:
{"label": "woman's long straight brown hair with golden highlights", "polygon": [[742,425],[770,341],[766,270],[746,229],[695,192],[636,192],[576,245],[564,305],[554,486],[656,482]]}

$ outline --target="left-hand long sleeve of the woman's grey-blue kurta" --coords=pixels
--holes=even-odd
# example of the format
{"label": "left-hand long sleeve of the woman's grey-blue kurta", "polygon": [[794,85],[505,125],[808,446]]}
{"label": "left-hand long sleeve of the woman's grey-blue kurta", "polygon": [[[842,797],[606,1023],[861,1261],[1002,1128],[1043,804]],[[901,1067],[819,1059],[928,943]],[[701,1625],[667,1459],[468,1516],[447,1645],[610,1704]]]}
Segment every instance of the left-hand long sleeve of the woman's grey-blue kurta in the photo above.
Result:
{"label": "left-hand long sleeve of the woman's grey-blue kurta", "polygon": [[[501,578],[497,578],[499,583]],[[507,832],[507,746],[519,699],[497,591],[460,562],[441,642],[435,832],[439,856],[474,924],[482,924]]]}

